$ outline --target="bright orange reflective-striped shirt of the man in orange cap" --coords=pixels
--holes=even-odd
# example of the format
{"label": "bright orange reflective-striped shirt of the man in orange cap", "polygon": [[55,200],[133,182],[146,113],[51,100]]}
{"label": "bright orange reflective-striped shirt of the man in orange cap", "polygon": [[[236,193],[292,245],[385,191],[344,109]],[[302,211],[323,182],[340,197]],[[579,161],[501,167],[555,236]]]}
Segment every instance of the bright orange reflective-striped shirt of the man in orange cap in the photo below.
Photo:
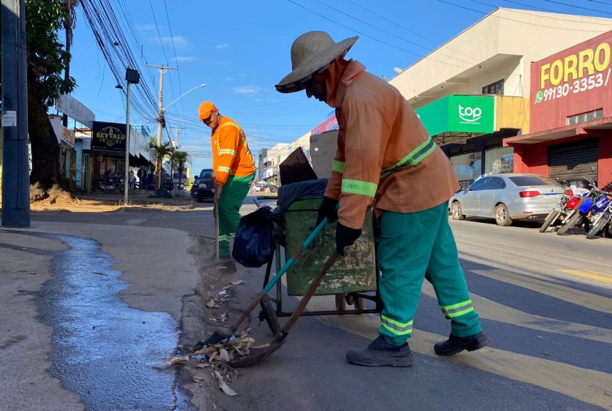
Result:
{"label": "bright orange reflective-striped shirt of the man in orange cap", "polygon": [[215,182],[218,185],[225,185],[230,176],[243,177],[255,173],[253,155],[244,131],[236,121],[221,116],[219,125],[213,131],[211,143]]}

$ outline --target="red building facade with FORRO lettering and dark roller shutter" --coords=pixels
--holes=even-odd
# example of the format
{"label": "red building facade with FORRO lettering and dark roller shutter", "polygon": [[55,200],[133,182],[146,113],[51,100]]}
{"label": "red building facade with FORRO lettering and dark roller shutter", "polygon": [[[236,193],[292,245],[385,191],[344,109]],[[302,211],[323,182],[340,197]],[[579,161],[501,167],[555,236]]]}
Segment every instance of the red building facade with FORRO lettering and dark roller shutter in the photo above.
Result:
{"label": "red building facade with FORRO lettering and dark roller shutter", "polygon": [[612,180],[612,31],[531,63],[528,135],[504,140],[517,173]]}

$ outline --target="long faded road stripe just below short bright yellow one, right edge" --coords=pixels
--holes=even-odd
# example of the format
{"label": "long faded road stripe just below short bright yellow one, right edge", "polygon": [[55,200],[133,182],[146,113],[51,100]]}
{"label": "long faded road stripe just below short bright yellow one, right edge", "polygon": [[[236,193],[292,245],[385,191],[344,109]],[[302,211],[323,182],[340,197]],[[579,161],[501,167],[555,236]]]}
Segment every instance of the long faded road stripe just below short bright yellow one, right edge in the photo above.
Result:
{"label": "long faded road stripe just below short bright yellow one, right edge", "polygon": [[494,280],[503,281],[504,283],[518,285],[527,290],[539,292],[549,296],[554,296],[557,299],[567,301],[567,303],[581,305],[591,310],[607,312],[612,314],[611,299],[592,294],[590,292],[576,290],[565,285],[558,285],[552,282],[538,280],[522,274],[516,274],[503,269],[492,270],[469,270],[479,276],[485,276]]}

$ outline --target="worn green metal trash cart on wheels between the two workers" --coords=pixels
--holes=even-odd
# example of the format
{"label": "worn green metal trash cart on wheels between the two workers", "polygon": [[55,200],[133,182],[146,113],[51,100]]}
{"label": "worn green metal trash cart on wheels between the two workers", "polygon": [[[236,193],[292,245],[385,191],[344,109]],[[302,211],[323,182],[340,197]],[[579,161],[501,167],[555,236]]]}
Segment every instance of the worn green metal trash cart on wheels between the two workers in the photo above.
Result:
{"label": "worn green metal trash cart on wheels between the two workers", "polygon": [[[265,198],[265,197],[264,197]],[[259,203],[259,201],[256,201]],[[316,226],[317,211],[321,199],[298,200],[284,212],[284,221],[275,224],[276,250],[266,266],[264,287],[270,280],[273,266],[280,271],[282,263],[301,246]],[[303,296],[313,278],[319,273],[328,256],[335,249],[336,223],[328,224],[324,232],[309,249],[287,270],[287,295]],[[305,311],[302,316],[380,313],[382,303],[378,293],[380,271],[376,244],[374,242],[373,213],[369,210],[364,221],[363,233],[357,242],[346,249],[344,258],[339,259],[323,278],[315,296],[334,295],[335,310]],[[261,302],[259,319],[266,321],[272,332],[280,330],[277,317],[289,317],[293,312],[283,310],[284,290],[280,281],[276,283],[275,296],[268,296]],[[365,308],[365,301],[373,301],[375,308]],[[347,309],[347,306],[352,306]]]}

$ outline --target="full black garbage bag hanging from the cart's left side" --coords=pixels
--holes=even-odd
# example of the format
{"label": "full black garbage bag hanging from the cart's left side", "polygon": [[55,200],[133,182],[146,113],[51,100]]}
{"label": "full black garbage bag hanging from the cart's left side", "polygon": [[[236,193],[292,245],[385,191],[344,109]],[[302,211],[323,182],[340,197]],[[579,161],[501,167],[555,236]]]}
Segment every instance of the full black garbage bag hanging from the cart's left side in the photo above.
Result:
{"label": "full black garbage bag hanging from the cart's left side", "polygon": [[240,219],[232,257],[245,267],[261,267],[274,253],[273,209],[264,205]]}

